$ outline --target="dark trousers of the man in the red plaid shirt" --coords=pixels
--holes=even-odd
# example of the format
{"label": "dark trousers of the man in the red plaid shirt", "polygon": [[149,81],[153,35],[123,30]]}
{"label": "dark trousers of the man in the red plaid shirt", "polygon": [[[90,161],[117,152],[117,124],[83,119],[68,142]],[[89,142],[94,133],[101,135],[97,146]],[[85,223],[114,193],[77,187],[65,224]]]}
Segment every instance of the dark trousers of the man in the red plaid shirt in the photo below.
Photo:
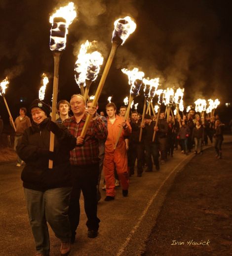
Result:
{"label": "dark trousers of the man in the red plaid shirt", "polygon": [[73,189],[69,205],[69,220],[72,232],[76,231],[80,217],[80,192],[84,197],[84,210],[89,230],[98,230],[100,219],[97,217],[97,185],[99,163],[84,166],[72,166]]}

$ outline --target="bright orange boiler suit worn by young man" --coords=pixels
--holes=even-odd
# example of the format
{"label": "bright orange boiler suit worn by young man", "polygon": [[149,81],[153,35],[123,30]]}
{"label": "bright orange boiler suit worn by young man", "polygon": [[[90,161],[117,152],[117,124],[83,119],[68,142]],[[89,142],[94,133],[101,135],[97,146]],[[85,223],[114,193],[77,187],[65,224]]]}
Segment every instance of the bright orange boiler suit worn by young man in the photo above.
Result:
{"label": "bright orange boiler suit worn by young man", "polygon": [[116,115],[116,120],[112,124],[109,118],[107,118],[108,136],[105,143],[105,158],[103,162],[103,170],[106,180],[106,195],[115,197],[115,166],[118,175],[118,179],[121,183],[122,189],[127,190],[129,187],[129,178],[127,171],[127,153],[124,136],[131,134],[131,126],[126,121],[127,128],[122,129],[119,137],[116,150],[114,150],[116,138],[118,136],[121,123],[124,121],[123,117]]}

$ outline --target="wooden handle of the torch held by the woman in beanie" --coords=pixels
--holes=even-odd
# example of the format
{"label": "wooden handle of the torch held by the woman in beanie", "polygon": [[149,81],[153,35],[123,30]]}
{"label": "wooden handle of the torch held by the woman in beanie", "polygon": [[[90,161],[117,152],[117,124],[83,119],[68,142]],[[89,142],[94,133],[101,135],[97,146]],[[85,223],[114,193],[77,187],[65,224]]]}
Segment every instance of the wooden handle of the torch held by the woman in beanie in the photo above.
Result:
{"label": "wooden handle of the torch held by the woman in beanie", "polygon": [[[60,63],[61,51],[53,51],[54,57],[54,78],[53,78],[53,97],[52,97],[52,112],[51,120],[56,121],[56,104],[57,104],[57,92],[58,92],[58,77],[59,77],[59,63]],[[49,151],[54,151],[54,133],[50,132],[50,146]],[[52,169],[53,161],[49,159],[48,168]]]}

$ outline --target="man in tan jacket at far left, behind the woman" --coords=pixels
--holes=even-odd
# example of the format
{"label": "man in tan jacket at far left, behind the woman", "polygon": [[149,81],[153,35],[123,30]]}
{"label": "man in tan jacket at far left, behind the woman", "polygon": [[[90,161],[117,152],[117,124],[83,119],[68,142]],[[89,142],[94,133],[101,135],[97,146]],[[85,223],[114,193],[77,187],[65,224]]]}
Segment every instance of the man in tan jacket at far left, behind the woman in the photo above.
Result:
{"label": "man in tan jacket at far left, behind the woman", "polygon": [[[23,136],[23,132],[25,129],[27,129],[28,127],[32,126],[31,125],[31,120],[30,118],[26,115],[27,113],[27,109],[26,107],[20,107],[19,109],[19,116],[16,117],[14,124],[16,127],[16,132],[15,132],[15,136],[14,136],[14,150],[16,152],[16,146],[19,143],[19,140],[22,138]],[[10,116],[10,124],[12,124],[12,120],[13,118]],[[19,156],[17,156],[17,167],[20,167],[22,165],[23,161],[20,159]]]}

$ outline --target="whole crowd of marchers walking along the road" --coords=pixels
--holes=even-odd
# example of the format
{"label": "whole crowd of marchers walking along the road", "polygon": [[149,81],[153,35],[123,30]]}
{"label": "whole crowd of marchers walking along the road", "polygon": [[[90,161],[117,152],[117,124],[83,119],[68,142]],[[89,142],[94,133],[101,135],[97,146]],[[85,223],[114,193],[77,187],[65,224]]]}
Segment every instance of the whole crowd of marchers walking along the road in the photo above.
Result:
{"label": "whole crowd of marchers walking along the road", "polygon": [[[216,158],[222,158],[224,124],[218,115],[200,117],[190,110],[188,115],[166,118],[161,110],[158,118],[150,114],[142,118],[137,111],[125,118],[126,107],[117,112],[111,102],[105,116],[92,102],[85,102],[81,95],[73,95],[70,102],[61,100],[57,104],[59,118],[53,122],[50,106],[35,100],[29,107],[32,121],[22,107],[14,122],[17,166],[23,166],[21,179],[37,256],[50,252],[47,223],[61,240],[61,255],[70,253],[79,224],[81,191],[87,236],[97,237],[102,172],[104,201],[108,202],[115,199],[118,184],[123,197],[129,195],[129,177],[135,170],[137,177],[154,168],[159,171],[178,148],[183,154],[202,154],[202,146],[213,143],[214,137]],[[86,135],[81,136],[87,115],[91,121]],[[51,133],[55,137],[53,151],[49,150]]]}

